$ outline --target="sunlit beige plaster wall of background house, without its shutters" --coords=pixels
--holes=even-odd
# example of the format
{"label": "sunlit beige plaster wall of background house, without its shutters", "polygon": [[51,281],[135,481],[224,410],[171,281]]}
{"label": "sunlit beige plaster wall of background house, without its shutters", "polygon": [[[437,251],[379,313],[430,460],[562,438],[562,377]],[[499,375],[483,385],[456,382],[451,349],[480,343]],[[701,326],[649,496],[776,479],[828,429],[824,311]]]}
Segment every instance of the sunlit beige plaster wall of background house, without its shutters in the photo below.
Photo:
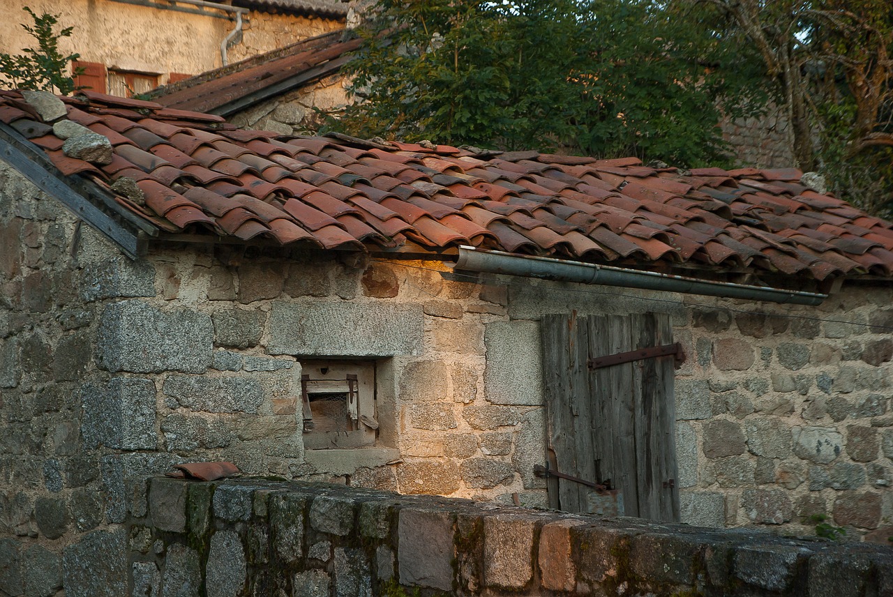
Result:
{"label": "sunlit beige plaster wall of background house, without its shutters", "polygon": [[[221,66],[220,46],[235,21],[208,15],[124,4],[112,0],[7,0],[0,21],[0,52],[17,54],[34,40],[20,23],[31,23],[22,11],[30,6],[38,14],[58,14],[59,27],[73,27],[71,37],[59,42],[63,54],[78,53],[84,62],[101,62],[115,70],[136,70],[160,75],[171,72],[196,75]],[[183,6],[187,6],[183,4]],[[230,46],[230,62],[287,46],[304,37],[336,29],[338,21],[302,16],[250,12],[243,33]]]}

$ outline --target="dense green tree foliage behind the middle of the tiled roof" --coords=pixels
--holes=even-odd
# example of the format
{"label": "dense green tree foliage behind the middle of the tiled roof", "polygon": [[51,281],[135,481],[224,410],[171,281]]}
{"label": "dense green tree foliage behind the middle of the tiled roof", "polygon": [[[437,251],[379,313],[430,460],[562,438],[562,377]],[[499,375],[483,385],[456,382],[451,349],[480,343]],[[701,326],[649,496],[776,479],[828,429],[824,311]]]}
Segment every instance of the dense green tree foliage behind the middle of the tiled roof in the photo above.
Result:
{"label": "dense green tree foliage behind the middle of the tiled roof", "polygon": [[[677,165],[716,162],[718,123],[758,111],[754,56],[652,0],[380,0],[351,63],[355,135]],[[754,71],[755,72],[755,71]]]}

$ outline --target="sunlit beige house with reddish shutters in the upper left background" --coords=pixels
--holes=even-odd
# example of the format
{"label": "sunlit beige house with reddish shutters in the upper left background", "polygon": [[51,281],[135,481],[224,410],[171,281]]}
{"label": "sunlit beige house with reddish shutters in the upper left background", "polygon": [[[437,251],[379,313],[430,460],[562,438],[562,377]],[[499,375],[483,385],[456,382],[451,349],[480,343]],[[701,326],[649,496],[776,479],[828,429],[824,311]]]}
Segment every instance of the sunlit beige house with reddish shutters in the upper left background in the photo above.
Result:
{"label": "sunlit beige house with reddish shutters in the upper left background", "polygon": [[17,54],[33,44],[20,25],[30,18],[24,6],[57,14],[60,29],[73,27],[59,47],[80,54],[72,65],[84,69],[79,86],[122,96],[342,29],[347,16],[338,0],[12,0],[4,4],[0,52]]}

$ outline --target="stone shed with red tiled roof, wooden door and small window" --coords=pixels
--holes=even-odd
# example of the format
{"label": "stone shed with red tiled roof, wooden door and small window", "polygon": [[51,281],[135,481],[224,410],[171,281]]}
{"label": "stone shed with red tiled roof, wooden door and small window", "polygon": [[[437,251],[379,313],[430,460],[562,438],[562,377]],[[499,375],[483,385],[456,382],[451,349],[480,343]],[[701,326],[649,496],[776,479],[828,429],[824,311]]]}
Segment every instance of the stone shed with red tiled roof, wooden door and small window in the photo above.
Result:
{"label": "stone shed with red tiled roof, wooden door and small window", "polygon": [[[196,460],[890,535],[893,225],[799,171],[295,137],[51,99],[0,92],[0,529],[47,569],[144,516],[146,477]],[[680,369],[667,352],[588,373],[676,343]],[[603,387],[626,431],[598,427]],[[589,503],[546,465],[608,491]]]}

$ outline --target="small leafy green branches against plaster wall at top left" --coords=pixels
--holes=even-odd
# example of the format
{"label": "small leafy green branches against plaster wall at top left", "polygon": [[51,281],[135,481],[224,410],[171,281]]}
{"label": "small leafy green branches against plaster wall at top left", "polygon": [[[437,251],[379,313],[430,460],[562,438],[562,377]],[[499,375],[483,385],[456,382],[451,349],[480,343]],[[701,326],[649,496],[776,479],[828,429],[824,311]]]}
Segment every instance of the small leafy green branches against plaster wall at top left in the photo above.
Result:
{"label": "small leafy green branches against plaster wall at top left", "polygon": [[70,37],[73,28],[55,32],[59,15],[44,12],[38,16],[28,6],[24,10],[31,15],[34,25],[22,23],[21,27],[37,40],[38,46],[26,47],[23,54],[0,53],[0,74],[8,79],[0,80],[0,85],[44,91],[57,89],[62,95],[70,94],[75,86],[74,79],[66,74],[67,66],[70,61],[77,60],[79,54],[63,55],[59,51],[59,39]]}

